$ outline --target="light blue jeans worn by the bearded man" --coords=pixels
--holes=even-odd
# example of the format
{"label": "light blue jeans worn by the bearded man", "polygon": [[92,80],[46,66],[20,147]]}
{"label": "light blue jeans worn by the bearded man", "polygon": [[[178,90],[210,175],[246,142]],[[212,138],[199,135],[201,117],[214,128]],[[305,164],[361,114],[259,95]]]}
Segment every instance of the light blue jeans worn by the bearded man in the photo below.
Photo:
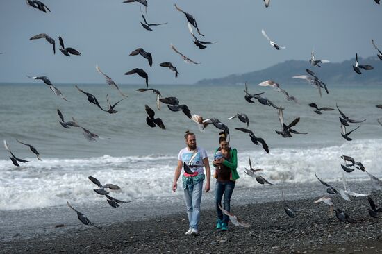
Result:
{"label": "light blue jeans worn by the bearded man", "polygon": [[187,208],[188,222],[190,228],[198,229],[200,221],[200,203],[203,193],[203,181],[194,185],[188,185],[184,189],[184,200]]}

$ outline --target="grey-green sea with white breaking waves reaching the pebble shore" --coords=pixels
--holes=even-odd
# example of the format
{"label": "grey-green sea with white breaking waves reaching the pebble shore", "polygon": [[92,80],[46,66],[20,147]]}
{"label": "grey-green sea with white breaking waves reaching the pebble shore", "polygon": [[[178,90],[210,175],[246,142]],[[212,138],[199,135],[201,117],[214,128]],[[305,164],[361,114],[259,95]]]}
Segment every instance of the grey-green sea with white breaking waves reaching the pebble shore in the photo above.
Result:
{"label": "grey-green sea with white breaking waves reaching the pebble shore", "polygon": [[[219,146],[218,133],[221,130],[210,125],[201,132],[183,112],[172,112],[163,103],[161,110],[158,110],[153,92],[136,92],[138,88],[144,88],[142,85],[119,85],[128,97],[116,105],[118,112],[115,114],[103,112],[89,103],[75,85],[96,96],[101,107],[106,109],[106,94],[111,104],[123,99],[114,87],[106,84],[55,84],[67,101],[53,94],[42,81],[0,85],[0,141],[6,140],[17,158],[28,160],[26,163],[19,162],[20,166],[15,167],[9,158],[10,153],[1,144],[0,219],[3,225],[10,226],[7,218],[11,214],[29,214],[31,218],[31,214],[44,209],[65,210],[75,217],[67,208],[67,201],[78,210],[114,209],[108,206],[106,198],[93,191],[97,185],[88,180],[88,176],[99,179],[101,184],[113,183],[121,187],[118,191],[110,191],[110,196],[133,201],[122,205],[131,207],[134,204],[135,208],[140,208],[136,210],[137,214],[146,211],[147,203],[153,202],[165,212],[170,207],[163,205],[165,201],[167,204],[174,201],[174,206],[183,209],[183,192],[181,187],[177,192],[172,192],[172,180],[178,152],[185,147],[185,131],[196,134],[197,146],[206,149],[211,162]],[[294,198],[306,196],[310,188],[321,189],[324,194],[324,185],[318,182],[315,174],[326,182],[342,187],[344,173],[348,181],[358,183],[360,192],[369,193],[369,176],[360,170],[344,172],[340,166],[343,163],[341,155],[349,155],[362,162],[369,173],[382,179],[382,126],[377,122],[382,117],[382,109],[376,108],[376,105],[382,104],[382,87],[328,86],[329,94],[323,90],[320,97],[317,89],[307,83],[282,85],[290,96],[298,99],[297,104],[287,101],[281,92],[272,90],[272,87],[248,84],[249,93],[265,92],[263,96],[285,108],[283,117],[286,124],[300,117],[294,130],[308,134],[292,134],[291,138],[283,138],[275,132],[281,129],[278,110],[258,101],[245,101],[244,84],[150,85],[159,90],[163,97],[175,96],[181,104],[188,105],[191,114],[204,119],[217,118],[229,127],[230,146],[238,149],[240,179],[235,192],[240,192],[240,189],[243,192],[266,189],[270,196],[281,196],[280,188],[259,185],[244,173],[251,158],[253,167],[263,169],[262,174],[269,182],[288,189]],[[309,103],[335,110],[317,115]],[[155,117],[163,120],[165,130],[147,125],[145,105],[154,110]],[[366,119],[361,124],[347,127],[350,131],[360,126],[349,135],[353,139],[351,141],[341,136],[340,113],[336,105],[351,119]],[[99,138],[90,142],[81,128],[63,128],[59,123],[58,109],[65,121],[72,121],[74,117],[80,126],[99,135]],[[245,113],[249,117],[248,127],[237,118],[228,119],[237,113]],[[262,137],[270,153],[253,144],[247,133],[235,128],[249,128],[256,137]],[[28,146],[19,144],[16,139],[35,146],[42,160],[38,160]],[[213,192],[215,180],[211,182]],[[181,180],[178,185],[181,186]],[[305,186],[304,192],[297,192],[298,186]],[[272,188],[277,191],[272,192]],[[269,200],[269,195],[257,198]],[[210,194],[210,199],[213,199],[213,194]],[[43,220],[40,218],[40,222]]]}

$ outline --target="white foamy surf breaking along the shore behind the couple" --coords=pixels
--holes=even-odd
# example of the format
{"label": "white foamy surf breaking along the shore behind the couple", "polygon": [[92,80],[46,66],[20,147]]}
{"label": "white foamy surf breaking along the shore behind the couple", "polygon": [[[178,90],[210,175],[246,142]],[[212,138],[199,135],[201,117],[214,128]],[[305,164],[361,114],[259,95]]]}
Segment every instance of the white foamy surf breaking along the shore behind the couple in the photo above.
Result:
{"label": "white foamy surf breaking along the shore behind the couple", "polygon": [[[331,182],[342,177],[341,153],[361,161],[367,171],[382,177],[382,144],[377,139],[347,142],[342,146],[322,148],[279,148],[265,154],[260,147],[253,151],[238,151],[238,187],[260,187],[254,178],[244,174],[251,157],[254,168],[262,168],[263,176],[272,183],[317,183],[315,173]],[[210,160],[213,153],[209,152]],[[98,178],[102,184],[114,183],[122,189],[110,195],[122,200],[145,197],[167,197],[171,190],[176,155],[149,155],[81,159],[45,159],[22,167],[13,167],[10,160],[0,160],[0,210],[43,208],[63,205],[67,200],[94,203],[106,199],[92,189],[88,176]],[[346,173],[350,180],[369,178],[362,171]],[[214,181],[214,180],[213,180]],[[179,188],[181,180],[178,181]],[[182,192],[176,192],[181,195]]]}

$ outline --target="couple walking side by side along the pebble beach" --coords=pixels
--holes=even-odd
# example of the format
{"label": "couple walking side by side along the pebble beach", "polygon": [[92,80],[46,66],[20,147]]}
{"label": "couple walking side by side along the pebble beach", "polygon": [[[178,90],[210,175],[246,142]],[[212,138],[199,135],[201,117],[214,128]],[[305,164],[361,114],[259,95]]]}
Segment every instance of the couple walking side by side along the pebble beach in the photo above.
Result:
{"label": "couple walking side by side along the pebble beach", "polygon": [[[198,235],[201,194],[203,193],[203,181],[205,179],[206,185],[204,190],[206,192],[210,190],[210,164],[206,150],[197,146],[197,139],[194,133],[187,131],[184,137],[187,146],[179,151],[172,191],[175,192],[178,186],[177,182],[181,176],[183,163],[187,164],[193,173],[184,172],[182,176],[182,187],[189,221],[189,228],[185,235]],[[229,217],[223,214],[219,204],[224,196],[223,208],[227,211],[231,210],[231,196],[235,188],[235,180],[239,178],[239,174],[236,171],[238,167],[237,151],[236,149],[231,149],[224,133],[219,133],[219,147],[214,154],[213,166],[215,167],[214,177],[216,178],[216,229],[226,231],[228,230]],[[204,167],[206,168],[206,174],[204,174]]]}

